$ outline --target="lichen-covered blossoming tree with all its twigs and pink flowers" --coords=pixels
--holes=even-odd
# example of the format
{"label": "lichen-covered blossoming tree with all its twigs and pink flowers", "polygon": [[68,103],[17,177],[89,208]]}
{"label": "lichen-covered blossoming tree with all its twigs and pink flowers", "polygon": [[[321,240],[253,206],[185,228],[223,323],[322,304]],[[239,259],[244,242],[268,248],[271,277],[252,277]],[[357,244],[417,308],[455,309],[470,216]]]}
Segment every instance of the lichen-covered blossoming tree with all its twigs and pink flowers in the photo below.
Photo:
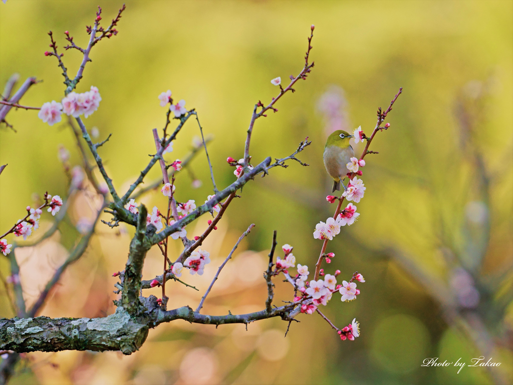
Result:
{"label": "lichen-covered blossoming tree with all its twigs and pink flowers", "polygon": [[[15,363],[19,357],[19,353],[32,351],[114,350],[131,354],[144,343],[149,328],[155,328],[160,323],[170,322],[176,319],[218,326],[229,323],[244,323],[247,325],[253,321],[280,317],[288,321],[290,326],[290,323],[296,321],[296,318],[301,314],[309,315],[318,313],[338,332],[341,339],[353,340],[355,337],[358,337],[360,331],[356,319],[353,319],[351,323],[348,323],[347,326],[343,328],[337,328],[337,326],[320,311],[320,306],[325,306],[336,292],[341,294],[342,301],[351,301],[356,298],[357,295],[360,294],[359,289],[356,288],[356,281],[365,282],[363,276],[354,273],[350,276],[348,281],[342,281],[342,284],[338,284],[337,277],[340,271],[337,270],[333,272],[333,274],[325,274],[321,268],[321,264],[323,260],[330,263],[331,259],[334,257],[334,253],[326,253],[328,240],[331,240],[334,235],[340,232],[340,226],[352,224],[359,216],[359,214],[356,213],[356,206],[353,206],[351,203],[343,210],[340,208],[344,199],[359,202],[363,197],[365,187],[363,186],[363,182],[356,177],[357,175],[361,175],[361,171],[359,171],[358,168],[365,164],[363,160],[365,155],[372,152],[368,151],[368,147],[376,132],[389,127],[388,124],[382,127],[381,123],[391,110],[393,101],[384,113],[382,113],[381,110],[379,111],[378,124],[376,128],[374,128],[370,138],[365,137],[360,129],[354,131],[354,136],[362,141],[367,140],[367,144],[360,159],[354,158],[356,161],[351,159],[351,162],[347,164],[350,173],[348,174],[350,181],[343,195],[340,198],[328,197],[328,201],[331,203],[337,201],[337,199],[339,202],[334,217],[329,218],[326,223],[321,222],[316,226],[314,237],[323,239],[324,245],[319,261],[315,266],[312,279],[308,278],[310,274],[308,266],[306,264],[297,263],[296,257],[292,254],[292,246],[289,244],[282,246],[283,256],[275,256],[277,233],[274,232],[271,252],[269,253],[268,268],[264,272],[267,285],[267,299],[265,301],[263,300],[263,302],[265,302],[265,306],[263,303],[263,309],[259,312],[239,315],[231,313],[221,316],[202,314],[202,307],[205,301],[208,300],[208,294],[215,281],[218,279],[221,269],[226,263],[229,263],[229,260],[242,239],[249,235],[254,226],[254,224],[251,224],[236,242],[232,251],[226,257],[226,260],[219,266],[208,290],[203,295],[196,309],[193,310],[191,307],[185,306],[168,310],[168,295],[172,295],[172,293],[166,288],[166,282],[172,279],[186,286],[190,286],[191,290],[196,290],[195,287],[187,283],[187,279],[182,275],[184,272],[188,272],[192,275],[203,274],[205,265],[210,263],[209,252],[201,247],[203,241],[207,237],[214,237],[217,225],[222,220],[226,210],[228,210],[230,203],[233,199],[237,197],[240,198],[238,194],[242,194],[242,187],[254,180],[258,175],[262,177],[267,175],[273,167],[287,167],[288,164],[291,163],[289,161],[296,161],[302,166],[308,166],[297,158],[298,154],[311,143],[308,141],[308,138],[301,142],[290,156],[275,159],[274,162],[271,161],[271,157],[267,157],[254,166],[250,164],[251,156],[249,148],[255,122],[262,117],[266,117],[268,110],[272,109],[274,112],[277,112],[278,110],[275,104],[286,93],[289,93],[288,91],[294,92],[294,88],[292,87],[297,86],[300,80],[306,80],[313,68],[313,62],[310,62],[310,52],[312,50],[311,42],[314,27],[311,26],[305,62],[299,74],[297,76],[291,75],[290,82],[286,87],[281,85],[281,78],[273,79],[271,83],[280,88],[277,96],[272,98],[268,105],[264,105],[260,101],[255,104],[251,113],[247,137],[244,143],[244,157],[240,160],[235,160],[231,157],[227,159],[229,166],[234,167],[233,174],[235,180],[233,183],[224,188],[218,188],[215,184],[214,173],[207,152],[207,143],[210,139],[207,137],[206,140],[203,135],[203,127],[200,125],[198,112],[194,109],[187,109],[184,100],[175,102],[171,97],[171,91],[168,90],[162,92],[158,97],[160,105],[165,108],[164,127],[161,132],[156,129],[152,132],[148,132],[148,135],[152,135],[153,137],[155,153],[151,156],[150,162],[140,172],[139,177],[130,185],[128,190],[123,192],[123,194],[119,194],[119,192],[115,190],[112,179],[108,176],[103,165],[102,157],[98,152],[101,146],[103,146],[102,150],[105,151],[105,147],[107,147],[105,144],[110,136],[103,142],[93,143],[92,137],[95,135],[93,131],[88,130],[83,120],[83,118],[87,118],[100,107],[100,102],[102,101],[100,91],[98,88],[89,85],[86,87],[88,90],[82,93],[76,93],[74,89],[82,79],[85,66],[91,61],[90,56],[92,48],[103,38],[109,38],[117,34],[117,30],[114,27],[120,22],[124,10],[125,6],[120,9],[117,16],[112,20],[112,23],[104,28],[101,26],[102,10],[98,8],[94,24],[87,27],[87,33],[90,35],[90,38],[86,48],[76,46],[70,33],[68,31],[65,32],[65,38],[69,43],[65,48],[74,49],[82,55],[81,65],[73,78],[68,76],[68,69],[62,61],[62,54],[58,52],[56,41],[52,33],[50,33],[50,46],[52,50],[45,52],[45,55],[50,57],[55,56],[57,59],[57,64],[63,71],[66,88],[63,90],[64,97],[60,99],[60,102],[52,101],[43,104],[39,112],[39,117],[43,122],[52,125],[60,122],[63,114],[67,115],[68,125],[76,138],[76,145],[82,157],[83,166],[79,166],[78,168],[83,169],[85,172],[70,173],[70,188],[64,199],[61,199],[59,196],[52,197],[49,194],[45,194],[45,199],[41,202],[41,205],[37,206],[37,208],[27,207],[26,216],[14,223],[1,237],[0,251],[9,258],[11,263],[9,284],[12,286],[12,292],[14,294],[13,309],[15,309],[17,314],[16,318],[0,320],[0,350],[11,355],[11,358],[5,362],[11,365]],[[398,95],[396,95],[396,99]],[[82,117],[82,115],[84,116]],[[181,130],[184,129],[189,118],[193,115],[201,133],[201,142],[196,143],[187,158],[183,160],[176,159],[174,161],[167,161],[166,154],[173,151],[175,139]],[[176,123],[174,130],[171,129],[173,122]],[[91,134],[89,132],[91,132]],[[86,146],[84,146],[83,141],[85,141]],[[87,148],[89,152],[86,150]],[[213,194],[208,195],[203,204],[196,204],[194,200],[179,202],[175,199],[175,191],[177,185],[180,185],[180,183],[176,182],[177,179],[180,178],[180,171],[188,167],[190,159],[203,150],[205,150],[209,164]],[[148,149],[148,151],[151,150]],[[67,152],[66,149],[61,149],[60,157],[63,164],[66,165],[69,161],[69,152]],[[90,164],[91,159],[95,166]],[[144,182],[150,169],[156,163],[160,165],[162,178],[152,183],[145,183],[145,186],[150,187],[143,188],[141,184]],[[94,168],[98,169],[99,174],[103,178],[103,182],[96,180],[93,172]],[[65,166],[65,171],[66,170],[69,171],[69,167]],[[155,206],[149,209],[137,202],[143,194],[158,189],[160,189],[160,193],[157,192],[157,194],[162,194],[166,197],[166,207]],[[98,201],[102,202],[96,207],[96,219],[94,223],[87,228],[87,231],[83,233],[82,239],[72,249],[66,262],[57,269],[55,275],[49,280],[40,298],[31,309],[27,310],[23,297],[23,287],[19,279],[19,267],[14,257],[15,249],[27,245],[34,246],[51,236],[56,231],[58,224],[66,217],[70,197],[78,190],[88,190],[88,194],[96,194],[97,198],[99,198]],[[19,239],[19,237],[23,237],[24,240],[26,240],[30,237],[38,228],[38,221],[41,215],[43,215],[43,209],[47,209],[53,216],[56,215],[56,217],[54,225],[40,240],[25,244],[17,244],[15,241],[9,243],[7,241],[8,237],[11,236],[14,237],[11,238],[12,240]],[[193,236],[189,239],[187,237],[187,225],[205,214],[212,216],[212,219],[208,220],[207,229],[203,234]],[[105,219],[100,219],[100,217],[105,217]],[[95,236],[97,222],[102,222],[110,226],[110,228],[105,227],[106,230],[109,231],[114,231],[115,227],[120,223],[126,223],[135,228],[135,234],[130,243],[125,268],[121,272],[114,274],[115,277],[119,278],[119,282],[115,284],[115,293],[120,294],[120,297],[115,301],[117,306],[116,312],[103,318],[92,319],[51,319],[42,316],[37,317],[48,294],[53,290],[54,285],[58,282],[67,266],[83,255],[89,241]],[[101,225],[98,224],[98,226]],[[172,258],[171,248],[168,246],[170,242],[177,240],[180,240],[183,248],[180,255],[175,255],[174,258]],[[142,269],[145,257],[152,247],[158,247],[162,254],[162,274],[150,280],[142,280]],[[295,269],[294,273],[292,273],[292,269]],[[320,278],[320,276],[323,278]],[[286,301],[284,305],[275,306],[273,305],[274,286],[276,278],[279,277],[284,278],[287,285],[290,284],[291,294],[289,301]],[[155,286],[162,288],[160,298],[155,296],[145,297],[144,290]],[[4,378],[8,376],[8,373],[9,371],[6,369],[6,365],[4,365],[2,367],[2,375]]]}

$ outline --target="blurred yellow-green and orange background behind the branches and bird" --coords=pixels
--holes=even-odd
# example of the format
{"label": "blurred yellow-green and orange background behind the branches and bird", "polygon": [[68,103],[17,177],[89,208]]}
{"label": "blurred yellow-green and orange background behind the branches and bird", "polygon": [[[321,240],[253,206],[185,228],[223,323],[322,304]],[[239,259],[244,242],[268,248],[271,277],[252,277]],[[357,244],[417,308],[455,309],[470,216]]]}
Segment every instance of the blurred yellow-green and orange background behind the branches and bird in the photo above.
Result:
{"label": "blurred yellow-green and orange background behind the branches and bird", "polygon": [[[122,3],[99,4],[107,23]],[[208,284],[235,240],[250,223],[257,224],[223,272],[225,283],[214,286],[205,307],[209,314],[262,309],[264,279],[254,271],[262,263],[260,271],[265,268],[273,229],[279,244],[293,245],[297,261],[313,270],[322,244],[312,237],[314,226],[334,210],[325,201],[331,186],[322,162],[327,134],[360,125],[370,133],[377,108],[386,108],[404,88],[388,115],[390,129],[372,142],[379,155],[366,158],[359,221],[343,227],[328,245],[336,257],[326,272],[338,268],[342,280],[358,270],[366,282],[358,284],[362,293],[356,301],[342,303],[333,296],[325,314],[339,327],[356,317],[361,337],[340,341],[317,315],[299,317],[301,323],[291,325],[286,339],[287,324],[279,319],[251,324],[247,333],[243,325],[215,330],[175,321],[151,331],[141,351],[129,357],[29,354],[12,383],[513,383],[512,4],[128,1],[119,34],[93,48],[93,61],[77,87],[78,92],[91,85],[100,90],[100,108],[85,123],[98,127],[100,139],[113,134],[100,153],[123,192],[154,153],[151,129],[165,122],[157,95],[167,89],[176,101],[185,99],[186,107],[196,108],[205,132],[213,135],[209,153],[218,186],[234,181],[225,160],[243,156],[253,105],[267,104],[277,94],[271,79],[281,76],[287,84],[288,76],[301,70],[306,37],[315,25],[315,67],[294,87],[297,92],[278,102],[278,113],[258,120],[250,151],[258,164],[267,156],[289,155],[308,136],[312,145],[300,159],[310,166],[274,168],[232,203],[208,244],[211,269],[202,278],[186,277],[200,287]],[[60,101],[63,79],[55,58],[43,54],[46,33],[54,32],[60,48],[65,30],[85,46],[85,25],[92,24],[97,5],[0,4],[0,84],[14,72],[22,81],[37,76],[43,82],[22,104]],[[66,51],[63,59],[69,73],[76,73],[81,55]],[[7,121],[17,132],[0,128],[0,164],[9,164],[0,177],[2,233],[33,205],[34,192],[66,195],[58,145],[71,151],[72,164],[81,162],[64,122],[50,127],[25,110],[11,111]],[[198,134],[191,119],[169,160],[183,158]],[[363,149],[361,144],[356,148],[358,153]],[[203,185],[193,188],[183,170],[176,198],[203,203],[212,192],[204,154],[188,169]],[[154,167],[148,181],[159,174]],[[65,254],[60,244],[76,238],[70,228],[84,215],[81,199],[75,199],[58,237],[16,254],[27,302]],[[142,201],[165,204],[160,194]],[[50,220],[44,216],[42,227]],[[189,237],[199,234],[205,222],[189,225]],[[97,232],[42,315],[93,317],[114,311],[111,275],[124,267],[129,236],[103,224]],[[160,258],[150,252],[146,279],[160,274]],[[3,277],[8,269],[6,259],[0,260]],[[170,286],[171,306],[192,306],[201,296]],[[289,300],[285,283],[277,286],[277,301]],[[0,314],[12,317],[5,288],[0,290]],[[461,357],[471,364],[481,355],[502,364],[494,370],[465,367],[459,374],[452,366],[421,367],[427,357],[442,362]]]}

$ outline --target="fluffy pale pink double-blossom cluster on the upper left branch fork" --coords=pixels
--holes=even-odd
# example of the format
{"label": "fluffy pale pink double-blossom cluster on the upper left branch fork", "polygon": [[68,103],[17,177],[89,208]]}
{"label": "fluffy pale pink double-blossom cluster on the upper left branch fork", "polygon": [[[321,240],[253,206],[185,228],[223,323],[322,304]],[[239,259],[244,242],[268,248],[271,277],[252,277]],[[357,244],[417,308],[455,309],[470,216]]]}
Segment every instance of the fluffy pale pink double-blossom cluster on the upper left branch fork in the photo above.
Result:
{"label": "fluffy pale pink double-blossom cluster on the upper left branch fork", "polygon": [[44,103],[37,116],[50,126],[62,120],[63,112],[73,118],[78,118],[82,114],[87,118],[98,109],[101,101],[102,97],[98,88],[91,86],[91,89],[87,92],[70,92],[64,97],[62,103],[54,100]]}

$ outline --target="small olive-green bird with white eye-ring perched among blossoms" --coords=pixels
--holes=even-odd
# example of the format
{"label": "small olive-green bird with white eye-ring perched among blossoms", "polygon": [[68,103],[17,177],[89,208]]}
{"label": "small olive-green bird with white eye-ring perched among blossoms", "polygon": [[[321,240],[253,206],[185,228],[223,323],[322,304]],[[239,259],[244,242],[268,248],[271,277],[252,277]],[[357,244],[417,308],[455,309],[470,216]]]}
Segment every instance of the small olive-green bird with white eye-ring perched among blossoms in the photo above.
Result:
{"label": "small olive-green bird with white eye-ring perched among blossoms", "polygon": [[354,157],[354,151],[349,144],[353,136],[346,131],[337,130],[331,133],[324,147],[324,166],[329,176],[333,178],[333,190],[340,191],[340,183],[347,174],[347,163]]}

